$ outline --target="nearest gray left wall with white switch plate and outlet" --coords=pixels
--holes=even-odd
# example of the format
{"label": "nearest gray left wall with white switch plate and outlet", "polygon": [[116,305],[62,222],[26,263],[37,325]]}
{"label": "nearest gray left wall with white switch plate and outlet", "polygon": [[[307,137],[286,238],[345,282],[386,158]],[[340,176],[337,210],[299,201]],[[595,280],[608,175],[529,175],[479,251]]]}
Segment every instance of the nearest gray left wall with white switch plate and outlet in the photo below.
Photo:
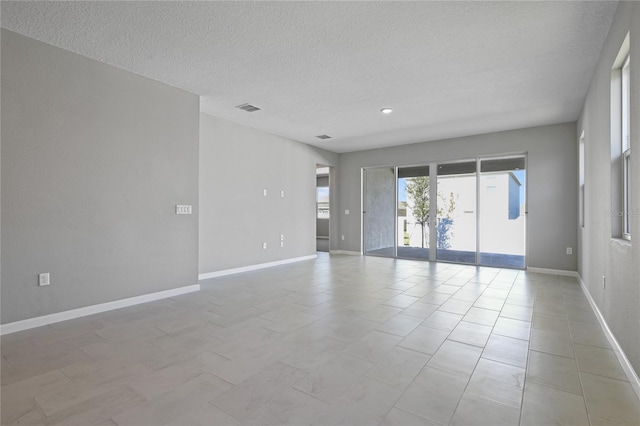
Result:
{"label": "nearest gray left wall with white switch plate and outlet", "polygon": [[2,30],[2,323],[197,283],[198,110]]}

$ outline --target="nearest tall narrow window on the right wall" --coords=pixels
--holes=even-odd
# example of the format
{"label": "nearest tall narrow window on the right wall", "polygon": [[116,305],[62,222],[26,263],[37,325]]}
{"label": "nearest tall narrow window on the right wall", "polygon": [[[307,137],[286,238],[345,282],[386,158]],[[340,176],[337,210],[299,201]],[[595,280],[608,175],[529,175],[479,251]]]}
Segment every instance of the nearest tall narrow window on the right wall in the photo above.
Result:
{"label": "nearest tall narrow window on the right wall", "polygon": [[622,236],[631,239],[631,72],[629,55],[621,72]]}

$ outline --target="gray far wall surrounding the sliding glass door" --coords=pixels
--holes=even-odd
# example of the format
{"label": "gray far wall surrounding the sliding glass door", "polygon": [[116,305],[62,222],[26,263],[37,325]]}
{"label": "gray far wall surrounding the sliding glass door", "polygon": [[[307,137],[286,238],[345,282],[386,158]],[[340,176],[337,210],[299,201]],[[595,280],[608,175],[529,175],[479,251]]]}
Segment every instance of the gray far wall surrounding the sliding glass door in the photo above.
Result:
{"label": "gray far wall surrounding the sliding glass door", "polygon": [[[577,159],[575,123],[403,145],[340,156],[340,248],[361,250],[360,170],[379,165],[419,165],[505,153],[528,153],[528,266],[577,270]],[[344,210],[349,209],[350,215]]]}

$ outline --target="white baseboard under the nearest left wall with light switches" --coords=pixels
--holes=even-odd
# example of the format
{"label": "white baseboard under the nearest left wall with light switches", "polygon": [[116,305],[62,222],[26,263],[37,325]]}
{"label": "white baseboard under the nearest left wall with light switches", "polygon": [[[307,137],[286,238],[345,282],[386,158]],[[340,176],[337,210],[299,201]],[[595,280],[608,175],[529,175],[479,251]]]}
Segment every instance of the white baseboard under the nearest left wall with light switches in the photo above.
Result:
{"label": "white baseboard under the nearest left wall with light switches", "polygon": [[172,288],[171,290],[159,291],[157,293],[143,294],[141,296],[129,297],[127,299],[114,300],[113,302],[99,303],[97,305],[85,306],[82,308],[71,309],[69,311],[56,312],[55,314],[10,322],[0,325],[0,336],[28,330],[30,328],[42,327],[43,325],[54,324],[56,322],[68,321],[74,318],[112,311],[114,309],[126,308],[127,306],[139,305],[141,303],[153,302],[154,300],[192,293],[199,290],[200,284],[188,285],[185,287]]}

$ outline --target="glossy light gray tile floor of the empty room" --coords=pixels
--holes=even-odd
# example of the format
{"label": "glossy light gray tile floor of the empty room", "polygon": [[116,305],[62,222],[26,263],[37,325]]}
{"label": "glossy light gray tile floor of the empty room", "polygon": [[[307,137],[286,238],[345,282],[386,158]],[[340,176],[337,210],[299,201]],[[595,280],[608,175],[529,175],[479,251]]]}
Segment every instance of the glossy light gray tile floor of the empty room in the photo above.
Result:
{"label": "glossy light gray tile floor of the empty room", "polygon": [[575,279],[377,257],[2,337],[2,424],[638,425]]}

